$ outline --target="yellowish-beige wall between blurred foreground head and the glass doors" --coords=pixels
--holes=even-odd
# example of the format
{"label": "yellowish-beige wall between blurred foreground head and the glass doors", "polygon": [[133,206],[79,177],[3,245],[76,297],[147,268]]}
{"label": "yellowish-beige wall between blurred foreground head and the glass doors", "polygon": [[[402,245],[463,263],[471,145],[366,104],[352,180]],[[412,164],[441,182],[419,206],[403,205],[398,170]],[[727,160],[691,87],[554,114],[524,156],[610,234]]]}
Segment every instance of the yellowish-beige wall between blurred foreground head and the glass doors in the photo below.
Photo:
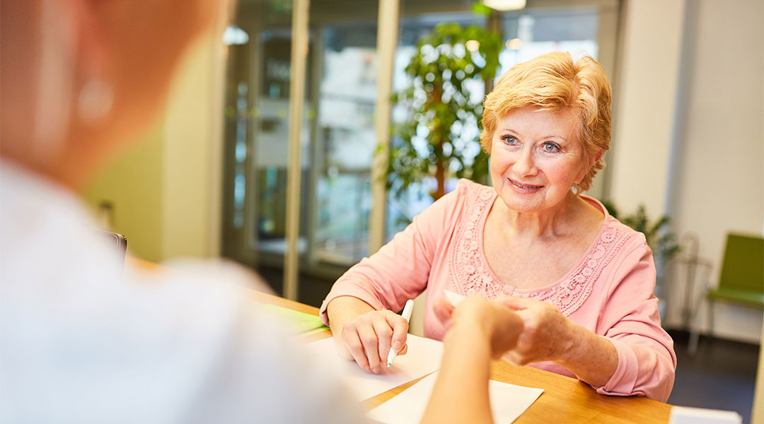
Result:
{"label": "yellowish-beige wall between blurred foreground head and the glass doors", "polygon": [[220,54],[221,43],[211,38],[189,49],[159,123],[86,191],[93,207],[112,202],[112,230],[128,237],[131,255],[161,262],[219,254]]}

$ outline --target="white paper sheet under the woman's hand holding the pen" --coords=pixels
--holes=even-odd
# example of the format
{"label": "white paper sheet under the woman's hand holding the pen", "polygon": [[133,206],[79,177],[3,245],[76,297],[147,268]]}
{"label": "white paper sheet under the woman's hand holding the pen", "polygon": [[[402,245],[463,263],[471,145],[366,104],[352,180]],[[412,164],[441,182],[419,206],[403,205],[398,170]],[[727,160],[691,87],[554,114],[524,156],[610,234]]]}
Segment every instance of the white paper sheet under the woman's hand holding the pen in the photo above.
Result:
{"label": "white paper sheet under the woman's hand holding the pen", "polygon": [[410,334],[406,345],[409,346],[406,355],[398,355],[390,368],[384,364],[379,374],[366,372],[354,361],[342,358],[331,337],[308,343],[306,347],[322,365],[335,368],[358,400],[366,400],[440,369],[442,342]]}

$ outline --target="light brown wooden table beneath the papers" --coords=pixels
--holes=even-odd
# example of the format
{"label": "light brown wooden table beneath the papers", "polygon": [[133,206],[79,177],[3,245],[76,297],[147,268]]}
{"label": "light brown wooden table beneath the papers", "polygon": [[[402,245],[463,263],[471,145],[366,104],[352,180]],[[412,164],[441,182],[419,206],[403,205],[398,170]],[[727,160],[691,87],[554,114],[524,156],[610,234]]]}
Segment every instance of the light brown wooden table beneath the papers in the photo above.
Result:
{"label": "light brown wooden table beneath the papers", "polygon": [[[318,308],[299,304],[293,300],[286,300],[269,294],[257,294],[257,297],[264,303],[304,313],[316,315],[319,313]],[[307,336],[306,339],[314,341],[329,336],[332,336],[332,332],[326,330]],[[517,424],[539,422],[557,424],[575,424],[578,422],[665,424],[669,422],[669,411],[672,408],[666,403],[644,397],[605,396],[575,378],[533,367],[516,367],[507,361],[494,361],[491,365],[490,377],[496,381],[544,389],[544,393],[539,399],[520,418],[516,419]],[[372,397],[363,403],[364,407],[371,410],[374,406],[390,400],[414,383],[416,381]]]}

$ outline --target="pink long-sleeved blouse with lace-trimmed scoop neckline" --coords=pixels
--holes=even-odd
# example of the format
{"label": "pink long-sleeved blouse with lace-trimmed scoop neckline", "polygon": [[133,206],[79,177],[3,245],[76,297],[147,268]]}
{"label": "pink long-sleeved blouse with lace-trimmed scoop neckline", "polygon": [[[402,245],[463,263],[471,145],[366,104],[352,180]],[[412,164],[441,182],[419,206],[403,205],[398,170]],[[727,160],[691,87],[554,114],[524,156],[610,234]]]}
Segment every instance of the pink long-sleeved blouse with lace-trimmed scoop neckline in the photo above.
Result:
{"label": "pink long-sleeved blouse with lace-trimmed scoop neckline", "polygon": [[[401,310],[406,300],[427,290],[425,336],[442,340],[445,329],[432,302],[443,290],[458,294],[528,297],[555,305],[571,320],[607,337],[618,353],[610,381],[594,387],[617,396],[643,395],[664,401],[674,385],[674,342],[661,328],[654,295],[656,268],[642,233],[623,225],[595,200],[582,196],[605,216],[581,261],[559,281],[517,289],[494,275],[483,251],[483,233],[494,188],[459,181],[455,191],[428,207],[377,253],[364,258],[335,282],[321,306],[335,297],[358,297],[376,310]],[[552,362],[536,368],[575,377]]]}

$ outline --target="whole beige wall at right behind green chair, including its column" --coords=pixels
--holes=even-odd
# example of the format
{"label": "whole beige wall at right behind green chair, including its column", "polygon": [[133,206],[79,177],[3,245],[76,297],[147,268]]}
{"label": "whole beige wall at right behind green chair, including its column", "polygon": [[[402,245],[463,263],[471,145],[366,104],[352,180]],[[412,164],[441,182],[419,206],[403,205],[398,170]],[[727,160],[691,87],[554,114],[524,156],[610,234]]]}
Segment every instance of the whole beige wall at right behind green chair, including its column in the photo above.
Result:
{"label": "whole beige wall at right behind green chair, including its column", "polygon": [[[762,234],[762,15],[760,0],[626,2],[610,196],[696,233],[711,281],[728,231]],[[664,324],[680,326],[684,275],[670,267],[665,282]],[[761,337],[761,310],[718,304],[714,317],[717,335]]]}

